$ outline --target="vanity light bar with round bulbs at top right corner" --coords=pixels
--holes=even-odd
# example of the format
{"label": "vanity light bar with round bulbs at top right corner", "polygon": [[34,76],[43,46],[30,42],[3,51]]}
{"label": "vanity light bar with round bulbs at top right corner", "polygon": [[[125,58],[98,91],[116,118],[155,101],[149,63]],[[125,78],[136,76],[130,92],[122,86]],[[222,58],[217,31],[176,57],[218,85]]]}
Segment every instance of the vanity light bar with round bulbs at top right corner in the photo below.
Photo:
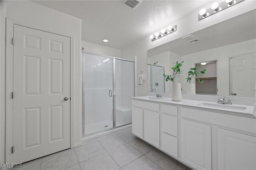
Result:
{"label": "vanity light bar with round bulbs at top right corner", "polygon": [[230,6],[234,6],[235,4],[238,4],[239,2],[242,2],[244,0],[225,0],[221,3],[214,2],[209,9],[202,8],[198,14],[198,21],[211,16],[212,14],[215,14],[217,12],[220,12],[222,10],[225,10],[226,8],[229,8]]}

